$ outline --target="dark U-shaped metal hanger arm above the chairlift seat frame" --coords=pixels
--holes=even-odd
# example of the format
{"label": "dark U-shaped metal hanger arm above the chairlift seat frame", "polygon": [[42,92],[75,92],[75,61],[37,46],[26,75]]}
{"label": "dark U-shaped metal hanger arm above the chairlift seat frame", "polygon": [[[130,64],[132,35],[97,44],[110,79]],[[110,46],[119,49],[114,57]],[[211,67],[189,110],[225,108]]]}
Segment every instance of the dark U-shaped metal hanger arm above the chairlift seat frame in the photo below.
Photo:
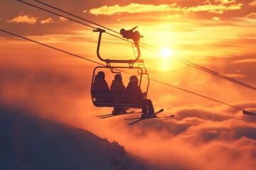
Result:
{"label": "dark U-shaped metal hanger arm above the chairlift seat frame", "polygon": [[93,32],[99,32],[99,38],[98,38],[98,43],[97,43],[97,57],[102,61],[102,62],[106,62],[106,64],[109,66],[110,63],[128,63],[129,65],[134,64],[135,62],[137,62],[139,60],[139,57],[141,56],[141,52],[139,49],[139,45],[137,45],[137,50],[138,50],[138,55],[134,60],[110,60],[110,59],[103,59],[100,56],[100,42],[101,42],[101,38],[102,38],[102,33],[105,33],[106,31],[101,29],[101,28],[97,28],[96,30],[93,30]]}

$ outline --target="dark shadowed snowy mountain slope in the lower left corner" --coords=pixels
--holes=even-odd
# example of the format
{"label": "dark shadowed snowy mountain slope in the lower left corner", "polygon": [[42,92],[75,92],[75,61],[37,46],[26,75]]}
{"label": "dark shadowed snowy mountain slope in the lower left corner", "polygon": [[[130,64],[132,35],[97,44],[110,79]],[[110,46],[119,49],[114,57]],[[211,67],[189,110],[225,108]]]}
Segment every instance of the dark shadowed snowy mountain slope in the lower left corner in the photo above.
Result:
{"label": "dark shadowed snowy mountain slope in the lower left corner", "polygon": [[117,142],[0,108],[0,169],[148,169]]}

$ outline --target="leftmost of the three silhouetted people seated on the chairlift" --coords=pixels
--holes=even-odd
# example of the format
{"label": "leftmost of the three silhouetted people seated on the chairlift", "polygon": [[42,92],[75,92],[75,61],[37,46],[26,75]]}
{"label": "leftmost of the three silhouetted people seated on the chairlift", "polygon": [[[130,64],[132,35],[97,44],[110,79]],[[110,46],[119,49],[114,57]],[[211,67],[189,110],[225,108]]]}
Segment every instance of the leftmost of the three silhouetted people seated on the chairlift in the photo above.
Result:
{"label": "leftmost of the three silhouetted people seated on the chairlift", "polygon": [[[105,73],[104,72],[98,72],[97,75],[95,75],[95,81],[92,84],[92,91],[95,91],[97,93],[105,93],[110,91],[109,86],[107,85],[107,81],[105,80]],[[107,98],[96,98],[96,101],[109,101]]]}

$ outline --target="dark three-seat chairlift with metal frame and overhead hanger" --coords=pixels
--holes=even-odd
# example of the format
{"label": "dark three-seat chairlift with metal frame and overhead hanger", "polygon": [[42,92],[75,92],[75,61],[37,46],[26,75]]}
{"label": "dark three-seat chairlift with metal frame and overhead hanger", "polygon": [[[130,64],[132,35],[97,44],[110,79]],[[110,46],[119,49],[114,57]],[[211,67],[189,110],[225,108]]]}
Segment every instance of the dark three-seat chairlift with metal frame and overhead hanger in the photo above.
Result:
{"label": "dark three-seat chairlift with metal frame and overhead hanger", "polygon": [[[146,67],[144,66],[144,61],[140,60],[141,52],[139,49],[139,45],[137,45],[137,52],[134,54],[135,59],[131,60],[112,60],[112,59],[104,59],[100,56],[100,42],[102,38],[102,33],[105,33],[105,30],[97,28],[93,30],[93,32],[99,32],[99,38],[97,43],[97,57],[106,63],[105,66],[98,66],[95,67],[92,73],[92,84],[95,82],[95,75],[99,70],[108,69],[112,72],[112,74],[121,74],[123,69],[137,69],[137,74],[139,75],[139,88],[142,86],[142,79],[146,79],[146,90],[145,93],[147,94],[149,90],[149,74],[146,71]],[[119,66],[112,65],[120,64]],[[122,65],[121,65],[122,64]],[[125,66],[124,64],[127,64]],[[134,66],[137,64],[137,66]],[[135,70],[136,71],[136,70]],[[143,81],[144,81],[143,79]],[[137,94],[125,94],[125,91],[95,91],[92,89],[91,84],[91,96],[92,96],[92,103],[96,107],[111,107],[111,108],[142,108],[142,100],[139,100],[141,96]],[[101,100],[97,100],[100,98]],[[146,95],[144,96],[146,98]],[[137,99],[137,102],[129,102],[134,101]]]}

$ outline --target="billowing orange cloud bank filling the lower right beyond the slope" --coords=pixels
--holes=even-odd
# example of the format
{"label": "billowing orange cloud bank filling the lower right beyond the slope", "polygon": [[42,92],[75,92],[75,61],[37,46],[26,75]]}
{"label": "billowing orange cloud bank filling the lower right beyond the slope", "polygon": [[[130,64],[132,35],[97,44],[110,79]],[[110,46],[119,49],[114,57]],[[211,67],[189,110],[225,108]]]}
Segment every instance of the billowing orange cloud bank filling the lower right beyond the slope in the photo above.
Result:
{"label": "billowing orange cloud bank filling the lower right beyond the slope", "polygon": [[[251,106],[252,103],[240,105]],[[253,106],[255,107],[255,103]],[[195,169],[203,170],[224,170],[227,167],[238,170],[241,166],[254,169],[254,117],[250,117],[254,121],[247,122],[242,119],[246,115],[215,105],[209,105],[208,108],[181,108],[174,114],[174,118],[144,120],[125,131],[122,128],[122,132],[128,134],[132,131],[130,138],[136,141],[133,142],[138,146],[136,152],[143,152],[144,157],[156,162],[164,162],[166,169],[178,169],[175,168],[177,164],[190,164]],[[145,143],[150,147],[143,147]]]}

